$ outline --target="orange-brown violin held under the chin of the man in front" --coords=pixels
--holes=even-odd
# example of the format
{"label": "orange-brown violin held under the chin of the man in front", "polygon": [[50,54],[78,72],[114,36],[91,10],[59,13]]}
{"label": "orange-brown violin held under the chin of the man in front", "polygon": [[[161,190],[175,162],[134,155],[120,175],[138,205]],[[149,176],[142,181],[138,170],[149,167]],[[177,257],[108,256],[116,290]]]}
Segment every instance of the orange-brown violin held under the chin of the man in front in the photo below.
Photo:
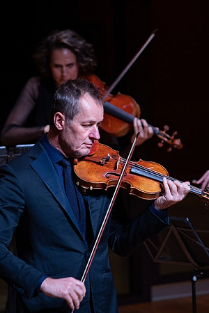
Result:
{"label": "orange-brown violin held under the chin of the man in front", "polygon": [[[76,184],[84,191],[107,190],[118,183],[124,164],[125,159],[118,154],[118,151],[98,143],[91,154],[75,159]],[[158,163],[141,159],[137,162],[130,161],[121,187],[127,189],[130,195],[146,200],[157,199],[163,193],[163,177],[171,181],[178,180],[169,177],[166,168]],[[190,185],[190,192],[199,195],[208,207],[209,193],[207,191]]]}

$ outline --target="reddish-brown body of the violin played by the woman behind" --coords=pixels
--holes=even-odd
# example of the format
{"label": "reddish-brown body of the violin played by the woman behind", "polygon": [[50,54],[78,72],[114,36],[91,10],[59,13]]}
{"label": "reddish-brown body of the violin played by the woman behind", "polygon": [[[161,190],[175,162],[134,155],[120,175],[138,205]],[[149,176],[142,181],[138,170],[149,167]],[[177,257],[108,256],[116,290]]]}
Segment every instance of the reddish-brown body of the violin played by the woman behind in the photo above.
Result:
{"label": "reddish-brown body of the violin played by the woman behind", "polygon": [[[95,86],[99,88],[101,97],[104,96],[107,91],[106,83],[100,81],[95,74],[90,74],[84,78],[88,79],[88,81],[92,81]],[[141,111],[139,104],[129,95],[123,95],[121,93],[116,93],[116,95],[109,94],[105,98],[105,102],[112,104],[116,109],[121,109],[124,113],[132,115],[133,118],[139,118],[140,116]],[[133,125],[130,122],[121,120],[121,118],[105,113],[104,110],[104,120],[100,124],[100,128],[112,136],[121,137],[128,134],[132,130]]]}

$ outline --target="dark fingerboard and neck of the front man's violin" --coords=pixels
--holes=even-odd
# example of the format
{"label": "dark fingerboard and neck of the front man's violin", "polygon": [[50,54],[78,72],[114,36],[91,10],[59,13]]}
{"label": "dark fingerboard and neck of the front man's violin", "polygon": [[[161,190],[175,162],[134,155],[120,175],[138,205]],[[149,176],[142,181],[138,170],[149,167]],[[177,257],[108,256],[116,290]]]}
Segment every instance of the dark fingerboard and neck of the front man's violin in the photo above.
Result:
{"label": "dark fingerboard and neck of the front man's violin", "polygon": [[[166,177],[167,179],[171,180],[174,182],[174,180],[178,180],[172,177],[169,177],[167,175],[161,174],[160,172],[155,172],[154,170],[149,170],[148,168],[144,168],[144,166],[139,166],[139,165],[133,165],[130,173],[133,173],[134,175],[139,175],[142,177],[146,177],[149,179],[153,179],[156,182],[162,183],[163,182],[163,177]],[[178,180],[180,182],[180,180]],[[180,182],[182,183],[182,182]],[[195,193],[196,195],[203,195],[204,191],[200,188],[197,188],[195,186],[190,185],[190,191],[191,193]]]}

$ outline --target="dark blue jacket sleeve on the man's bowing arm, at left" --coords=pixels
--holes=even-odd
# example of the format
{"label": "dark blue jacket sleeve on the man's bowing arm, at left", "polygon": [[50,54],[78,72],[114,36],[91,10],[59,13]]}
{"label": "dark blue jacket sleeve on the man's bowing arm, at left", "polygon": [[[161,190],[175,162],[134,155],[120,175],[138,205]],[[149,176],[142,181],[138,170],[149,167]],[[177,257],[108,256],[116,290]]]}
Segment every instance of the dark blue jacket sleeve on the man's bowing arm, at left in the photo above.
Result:
{"label": "dark blue jacket sleeve on the man's bowing arm, at left", "polygon": [[10,251],[13,233],[24,211],[22,184],[7,164],[1,166],[0,177],[0,277],[24,296],[32,298],[43,273]]}

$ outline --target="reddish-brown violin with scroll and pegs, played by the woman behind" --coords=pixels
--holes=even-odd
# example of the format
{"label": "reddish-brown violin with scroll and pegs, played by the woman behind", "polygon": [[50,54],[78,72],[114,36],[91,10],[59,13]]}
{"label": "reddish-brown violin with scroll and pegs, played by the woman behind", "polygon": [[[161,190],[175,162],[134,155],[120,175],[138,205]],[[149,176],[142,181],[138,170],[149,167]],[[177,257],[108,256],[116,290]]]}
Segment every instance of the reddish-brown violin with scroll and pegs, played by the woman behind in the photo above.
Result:
{"label": "reddish-brown violin with scroll and pegs, played by the woman behind", "polygon": [[[100,90],[100,94],[104,97],[107,92],[107,85],[102,82],[95,74],[87,75],[88,81],[92,81],[95,86]],[[129,95],[123,95],[117,93],[116,95],[107,95],[104,101],[104,120],[100,124],[100,128],[111,134],[112,136],[121,137],[129,133],[133,127],[134,118],[139,118],[141,110],[139,104]],[[149,127],[153,129],[153,133],[160,138],[160,143],[158,147],[162,147],[163,143],[167,143],[169,148],[168,152],[171,151],[171,147],[176,149],[182,149],[183,144],[180,142],[180,138],[174,138],[177,131],[174,131],[172,136],[167,134],[169,127],[164,126],[164,130],[161,131],[156,127],[148,124]]]}

